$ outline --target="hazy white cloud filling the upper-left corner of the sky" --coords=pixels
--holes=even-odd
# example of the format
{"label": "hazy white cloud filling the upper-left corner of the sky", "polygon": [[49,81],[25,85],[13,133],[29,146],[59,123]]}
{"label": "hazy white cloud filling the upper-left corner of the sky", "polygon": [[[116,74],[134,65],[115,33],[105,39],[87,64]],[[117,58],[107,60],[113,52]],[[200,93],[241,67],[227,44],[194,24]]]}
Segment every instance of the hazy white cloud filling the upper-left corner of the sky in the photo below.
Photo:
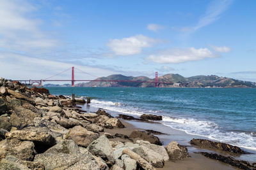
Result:
{"label": "hazy white cloud filling the upper-left corner of the sky", "polygon": [[28,1],[0,0],[0,48],[27,52],[58,45],[39,28],[42,20],[33,18],[37,9]]}

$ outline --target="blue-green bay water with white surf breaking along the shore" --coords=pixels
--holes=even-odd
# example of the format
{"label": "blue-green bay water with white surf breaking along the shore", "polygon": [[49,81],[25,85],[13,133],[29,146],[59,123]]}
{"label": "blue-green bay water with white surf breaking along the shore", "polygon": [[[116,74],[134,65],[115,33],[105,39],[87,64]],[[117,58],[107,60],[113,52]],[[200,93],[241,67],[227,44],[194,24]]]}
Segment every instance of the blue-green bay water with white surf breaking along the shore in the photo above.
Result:
{"label": "blue-green bay water with white surf breaking along the shore", "polygon": [[52,94],[92,97],[91,106],[256,150],[256,89],[48,87]]}

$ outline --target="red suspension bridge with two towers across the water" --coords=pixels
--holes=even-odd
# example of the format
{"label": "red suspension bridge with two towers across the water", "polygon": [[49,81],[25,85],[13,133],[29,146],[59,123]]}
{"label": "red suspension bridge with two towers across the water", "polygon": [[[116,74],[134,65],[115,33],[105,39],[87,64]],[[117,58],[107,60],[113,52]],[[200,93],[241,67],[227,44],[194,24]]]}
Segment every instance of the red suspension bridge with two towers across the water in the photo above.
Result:
{"label": "red suspension bridge with two towers across the water", "polygon": [[[15,81],[20,81],[20,83],[27,83],[29,82],[29,85],[33,85],[33,86],[39,86],[42,87],[43,86],[43,82],[45,81],[70,81],[71,82],[71,86],[74,87],[75,86],[75,82],[76,81],[106,81],[106,82],[130,82],[130,83],[154,83],[155,87],[158,87],[160,83],[163,84],[169,84],[169,85],[173,85],[173,82],[163,82],[163,81],[158,81],[158,73],[156,72],[156,78],[155,81],[136,81],[136,80],[75,80],[75,67],[71,67],[72,69],[72,76],[71,76],[71,80],[56,80],[56,79],[51,79],[54,76],[57,76],[59,74],[64,73],[65,71],[70,70],[70,68],[66,69],[65,71],[62,71],[61,73],[58,74],[54,74],[53,76],[50,76],[48,78],[42,79],[42,80],[15,80]],[[77,70],[85,73],[84,71],[78,69],[76,67]],[[94,76],[90,73],[85,73],[85,74],[89,74],[90,76]],[[97,77],[97,76],[95,76]]]}

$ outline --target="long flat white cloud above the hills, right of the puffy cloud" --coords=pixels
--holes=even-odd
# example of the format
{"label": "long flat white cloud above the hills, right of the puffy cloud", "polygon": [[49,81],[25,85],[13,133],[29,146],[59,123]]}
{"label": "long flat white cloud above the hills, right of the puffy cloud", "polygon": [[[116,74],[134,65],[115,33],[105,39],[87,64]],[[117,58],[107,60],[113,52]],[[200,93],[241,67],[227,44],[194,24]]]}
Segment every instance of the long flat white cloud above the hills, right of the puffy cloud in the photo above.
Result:
{"label": "long flat white cloud above the hills, right of the puffy cloud", "polygon": [[165,50],[156,55],[150,55],[146,60],[157,62],[160,64],[180,63],[194,60],[202,60],[207,58],[218,57],[216,53],[212,53],[208,48],[173,48]]}

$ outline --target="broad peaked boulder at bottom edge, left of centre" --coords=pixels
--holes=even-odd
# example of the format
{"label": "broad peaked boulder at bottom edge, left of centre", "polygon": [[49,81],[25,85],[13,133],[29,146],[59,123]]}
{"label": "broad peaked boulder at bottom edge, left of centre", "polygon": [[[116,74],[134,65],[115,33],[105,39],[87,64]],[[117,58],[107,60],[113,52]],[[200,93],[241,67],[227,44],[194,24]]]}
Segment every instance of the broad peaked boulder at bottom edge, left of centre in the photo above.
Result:
{"label": "broad peaked boulder at bottom edge, left of centre", "polygon": [[45,153],[35,156],[34,162],[41,162],[45,169],[100,170],[92,154],[81,149],[72,140],[64,140]]}

